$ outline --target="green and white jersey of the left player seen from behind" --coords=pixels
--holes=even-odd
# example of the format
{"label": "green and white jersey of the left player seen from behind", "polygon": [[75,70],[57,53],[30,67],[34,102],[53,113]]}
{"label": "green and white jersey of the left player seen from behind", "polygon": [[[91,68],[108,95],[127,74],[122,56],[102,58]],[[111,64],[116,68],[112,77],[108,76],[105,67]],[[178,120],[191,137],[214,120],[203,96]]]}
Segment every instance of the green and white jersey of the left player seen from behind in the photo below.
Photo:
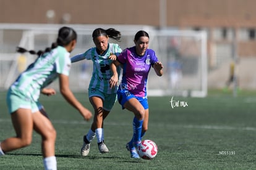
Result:
{"label": "green and white jersey of the left player seen from behind", "polygon": [[62,46],[41,55],[20,74],[12,84],[11,90],[37,101],[41,89],[58,78],[58,74],[69,76],[71,65],[69,55],[70,53]]}

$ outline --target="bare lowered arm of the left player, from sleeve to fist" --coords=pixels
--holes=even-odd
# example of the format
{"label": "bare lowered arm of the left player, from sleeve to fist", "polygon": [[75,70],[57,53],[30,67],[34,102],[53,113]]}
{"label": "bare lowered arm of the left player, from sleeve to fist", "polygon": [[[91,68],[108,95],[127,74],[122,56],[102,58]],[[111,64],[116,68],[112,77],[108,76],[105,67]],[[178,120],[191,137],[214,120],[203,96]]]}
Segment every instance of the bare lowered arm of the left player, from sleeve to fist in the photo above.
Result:
{"label": "bare lowered arm of the left player, from sleeve to fist", "polygon": [[59,89],[63,97],[70,103],[73,107],[79,110],[80,114],[87,121],[92,118],[92,113],[87,108],[75,98],[74,94],[69,89],[69,76],[59,74]]}

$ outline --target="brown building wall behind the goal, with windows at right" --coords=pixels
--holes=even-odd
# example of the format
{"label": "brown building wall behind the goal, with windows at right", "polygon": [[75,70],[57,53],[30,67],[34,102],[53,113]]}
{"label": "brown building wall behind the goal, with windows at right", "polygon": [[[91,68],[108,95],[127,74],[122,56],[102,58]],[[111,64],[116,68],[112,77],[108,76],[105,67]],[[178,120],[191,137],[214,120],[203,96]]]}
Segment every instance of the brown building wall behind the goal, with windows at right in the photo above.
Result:
{"label": "brown building wall behind the goal, with windows at right", "polygon": [[256,56],[255,5],[255,0],[0,0],[0,23],[121,24],[205,30],[209,65],[214,68],[223,56],[211,54],[224,53],[227,49],[220,47],[223,44],[231,49],[233,41],[239,57]]}

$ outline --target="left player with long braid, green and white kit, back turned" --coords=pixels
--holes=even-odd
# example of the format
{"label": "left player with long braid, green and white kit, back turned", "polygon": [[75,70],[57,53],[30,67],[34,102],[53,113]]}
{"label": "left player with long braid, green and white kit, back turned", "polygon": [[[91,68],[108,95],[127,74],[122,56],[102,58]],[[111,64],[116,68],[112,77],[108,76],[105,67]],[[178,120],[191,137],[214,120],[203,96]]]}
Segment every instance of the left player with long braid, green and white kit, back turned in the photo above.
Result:
{"label": "left player with long braid, green and white kit, back turned", "polygon": [[[46,89],[54,79],[59,77],[60,91],[63,97],[87,121],[92,113],[74,97],[69,89],[70,52],[76,44],[77,34],[72,28],[59,29],[58,39],[53,43],[49,52],[38,52],[38,59],[27,70],[20,74],[19,78],[11,85],[7,93],[7,105],[11,113],[12,124],[16,136],[10,137],[0,144],[0,155],[12,150],[27,147],[32,142],[33,129],[41,135],[41,148],[45,169],[57,169],[55,157],[56,131],[46,116],[40,113],[42,105],[38,102],[41,94],[54,95],[54,89]],[[17,52],[30,52],[19,48]]]}

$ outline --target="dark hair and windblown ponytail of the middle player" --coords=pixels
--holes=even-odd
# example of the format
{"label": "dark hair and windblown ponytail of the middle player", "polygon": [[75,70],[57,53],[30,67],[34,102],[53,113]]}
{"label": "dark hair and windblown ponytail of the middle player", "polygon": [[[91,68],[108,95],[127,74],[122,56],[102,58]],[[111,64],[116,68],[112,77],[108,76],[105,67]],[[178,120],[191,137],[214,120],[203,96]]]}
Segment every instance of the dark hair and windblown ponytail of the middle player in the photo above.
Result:
{"label": "dark hair and windblown ponytail of the middle player", "polygon": [[121,33],[120,31],[115,30],[114,28],[108,28],[108,30],[104,30],[103,28],[97,28],[93,31],[92,37],[93,39],[98,36],[108,36],[116,41],[121,41]]}

